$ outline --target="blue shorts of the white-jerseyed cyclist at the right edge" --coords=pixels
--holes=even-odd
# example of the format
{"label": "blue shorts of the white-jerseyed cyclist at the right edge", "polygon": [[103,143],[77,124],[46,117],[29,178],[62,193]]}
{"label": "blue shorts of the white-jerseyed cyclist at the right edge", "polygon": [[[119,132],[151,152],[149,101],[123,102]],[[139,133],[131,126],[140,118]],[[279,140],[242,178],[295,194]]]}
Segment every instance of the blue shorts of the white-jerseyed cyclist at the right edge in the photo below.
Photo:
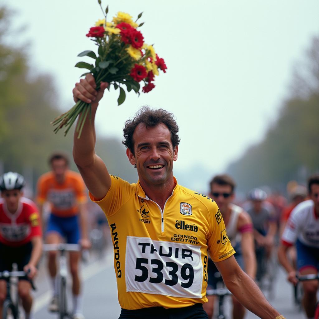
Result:
{"label": "blue shorts of the white-jerseyed cyclist at the right edge", "polygon": [[310,247],[297,240],[297,269],[315,268],[319,271],[319,248]]}

